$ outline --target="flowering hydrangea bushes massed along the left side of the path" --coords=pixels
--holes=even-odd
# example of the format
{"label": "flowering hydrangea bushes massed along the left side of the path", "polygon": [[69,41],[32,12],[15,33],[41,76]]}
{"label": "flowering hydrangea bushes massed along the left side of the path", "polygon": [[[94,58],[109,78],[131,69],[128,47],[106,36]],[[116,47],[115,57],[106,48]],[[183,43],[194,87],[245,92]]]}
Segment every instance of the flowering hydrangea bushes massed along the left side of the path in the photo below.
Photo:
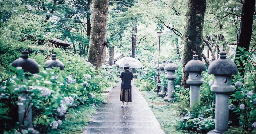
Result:
{"label": "flowering hydrangea bushes massed along the left side of the path", "polygon": [[68,57],[61,53],[59,58],[64,63],[64,70],[56,67],[44,70],[44,66],[40,66],[38,74],[28,74],[29,80],[25,79],[22,68],[9,66],[11,71],[6,73],[16,75],[1,83],[1,132],[31,131],[23,129],[26,122],[23,122],[21,127],[16,123],[17,103],[21,92],[26,96],[27,102],[32,104],[34,129],[40,133],[48,133],[52,129],[58,129],[70,109],[100,105],[104,100],[101,95],[104,89],[116,84],[117,75],[108,76],[112,71],[116,74],[118,70],[115,67],[107,70],[95,69],[78,56]]}

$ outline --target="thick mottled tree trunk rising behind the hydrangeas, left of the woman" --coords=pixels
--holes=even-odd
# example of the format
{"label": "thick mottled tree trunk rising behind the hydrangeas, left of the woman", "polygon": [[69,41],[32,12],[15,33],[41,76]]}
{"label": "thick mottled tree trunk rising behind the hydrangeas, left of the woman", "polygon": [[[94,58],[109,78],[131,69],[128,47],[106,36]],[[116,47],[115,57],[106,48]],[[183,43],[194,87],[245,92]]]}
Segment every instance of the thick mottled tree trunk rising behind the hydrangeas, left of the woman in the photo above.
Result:
{"label": "thick mottled tree trunk rising behind the hydrangeas, left of the woman", "polygon": [[94,0],[92,11],[92,29],[88,50],[88,60],[99,68],[106,46],[108,0]]}

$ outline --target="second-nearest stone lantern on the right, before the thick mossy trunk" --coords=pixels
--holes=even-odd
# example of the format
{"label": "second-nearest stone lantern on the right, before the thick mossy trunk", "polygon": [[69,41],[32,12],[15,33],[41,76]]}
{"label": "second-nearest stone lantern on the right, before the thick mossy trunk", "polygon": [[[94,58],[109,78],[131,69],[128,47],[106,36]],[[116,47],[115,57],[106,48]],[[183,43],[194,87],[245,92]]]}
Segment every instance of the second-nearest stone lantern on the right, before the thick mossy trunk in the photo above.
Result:
{"label": "second-nearest stone lantern on the right, before the thick mossy trunk", "polygon": [[200,99],[200,86],[204,83],[202,80],[202,71],[206,70],[204,63],[198,60],[198,55],[193,55],[193,59],[188,61],[184,67],[189,72],[187,84],[190,85],[190,107],[196,100]]}

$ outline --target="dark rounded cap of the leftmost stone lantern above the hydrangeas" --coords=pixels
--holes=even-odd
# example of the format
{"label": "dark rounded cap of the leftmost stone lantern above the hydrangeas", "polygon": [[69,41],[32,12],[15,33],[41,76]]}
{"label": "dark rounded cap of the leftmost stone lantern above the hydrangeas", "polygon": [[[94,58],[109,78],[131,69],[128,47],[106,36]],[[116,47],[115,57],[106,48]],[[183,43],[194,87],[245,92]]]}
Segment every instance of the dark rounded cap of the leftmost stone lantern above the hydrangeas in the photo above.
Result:
{"label": "dark rounded cap of the leftmost stone lantern above the hydrangeas", "polygon": [[22,67],[24,72],[29,72],[32,74],[39,73],[38,63],[31,58],[28,58],[29,52],[24,50],[21,52],[21,58],[16,59],[11,63],[13,67]]}

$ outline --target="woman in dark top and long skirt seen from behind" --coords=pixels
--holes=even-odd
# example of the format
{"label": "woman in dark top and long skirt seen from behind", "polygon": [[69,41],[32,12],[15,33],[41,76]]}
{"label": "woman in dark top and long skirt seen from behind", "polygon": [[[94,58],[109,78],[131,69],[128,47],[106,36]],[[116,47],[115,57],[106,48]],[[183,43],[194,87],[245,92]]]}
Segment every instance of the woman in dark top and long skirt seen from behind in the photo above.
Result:
{"label": "woman in dark top and long skirt seen from behind", "polygon": [[124,102],[126,102],[125,108],[128,108],[128,103],[132,102],[131,80],[133,80],[133,75],[132,72],[129,71],[129,67],[124,67],[124,71],[121,73],[120,78],[122,80],[120,93],[120,101],[122,101],[121,107],[124,107]]}

